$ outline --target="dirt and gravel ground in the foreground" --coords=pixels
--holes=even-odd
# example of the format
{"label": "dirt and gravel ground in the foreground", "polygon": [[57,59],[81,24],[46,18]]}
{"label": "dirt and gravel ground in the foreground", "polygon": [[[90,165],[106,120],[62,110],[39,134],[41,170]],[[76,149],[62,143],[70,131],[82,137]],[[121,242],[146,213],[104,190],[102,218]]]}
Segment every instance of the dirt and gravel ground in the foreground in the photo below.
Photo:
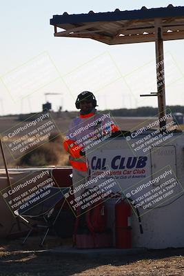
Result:
{"label": "dirt and gravel ground in the foreground", "polygon": [[89,257],[44,251],[44,249],[61,246],[63,243],[59,239],[47,239],[44,248],[38,246],[36,237],[31,238],[30,241],[26,246],[21,246],[20,239],[1,241],[1,276],[184,275],[184,248],[147,250],[136,255]]}

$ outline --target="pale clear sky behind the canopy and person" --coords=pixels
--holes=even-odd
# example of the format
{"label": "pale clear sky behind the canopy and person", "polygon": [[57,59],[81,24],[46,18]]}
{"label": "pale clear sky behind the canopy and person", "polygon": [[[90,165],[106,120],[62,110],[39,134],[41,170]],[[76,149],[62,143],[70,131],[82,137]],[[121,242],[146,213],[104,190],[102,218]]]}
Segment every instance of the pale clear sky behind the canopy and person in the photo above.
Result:
{"label": "pale clear sky behind the canopy and person", "polygon": [[[53,14],[63,14],[65,11],[77,14],[90,10],[113,11],[116,8],[135,10],[142,6],[165,7],[170,3],[173,6],[183,6],[183,1],[172,0],[3,1],[0,17],[0,115],[39,112],[45,102],[45,93],[50,92],[57,93],[46,98],[52,102],[54,110],[61,105],[63,110],[74,110],[76,95],[85,88],[95,93],[101,109],[156,107],[156,98],[143,100],[139,97],[141,93],[155,92],[154,43],[107,46],[90,39],[54,37],[50,18]],[[184,102],[183,43],[180,40],[164,44],[168,84],[166,101],[170,105]],[[42,57],[44,64],[48,65],[49,73],[52,71],[53,74],[48,83],[45,71],[38,65]],[[31,64],[34,72],[30,72]],[[150,75],[146,75],[147,72]],[[36,73],[40,76],[38,81],[43,84],[41,87],[34,79]],[[22,90],[19,87],[14,92],[14,85],[19,86],[18,82],[13,83],[13,80],[17,81],[17,74],[20,76],[18,82],[21,83]],[[146,75],[146,83],[143,82],[143,75]],[[29,94],[24,88],[30,81],[32,84]],[[35,89],[37,86],[38,89]]]}

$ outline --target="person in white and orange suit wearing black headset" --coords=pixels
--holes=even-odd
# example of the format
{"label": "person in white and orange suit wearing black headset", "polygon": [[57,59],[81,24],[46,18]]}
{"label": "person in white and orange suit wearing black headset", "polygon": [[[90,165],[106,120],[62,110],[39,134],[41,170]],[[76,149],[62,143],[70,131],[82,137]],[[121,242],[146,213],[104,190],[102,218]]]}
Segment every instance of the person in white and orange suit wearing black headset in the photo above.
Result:
{"label": "person in white and orange suit wearing black headset", "polygon": [[[63,146],[70,153],[69,161],[72,165],[73,188],[88,181],[85,151],[92,150],[95,141],[110,137],[119,131],[109,114],[97,112],[96,98],[89,91],[78,95],[75,106],[80,109],[79,117],[72,120],[63,142]],[[75,197],[80,193],[74,194]]]}

